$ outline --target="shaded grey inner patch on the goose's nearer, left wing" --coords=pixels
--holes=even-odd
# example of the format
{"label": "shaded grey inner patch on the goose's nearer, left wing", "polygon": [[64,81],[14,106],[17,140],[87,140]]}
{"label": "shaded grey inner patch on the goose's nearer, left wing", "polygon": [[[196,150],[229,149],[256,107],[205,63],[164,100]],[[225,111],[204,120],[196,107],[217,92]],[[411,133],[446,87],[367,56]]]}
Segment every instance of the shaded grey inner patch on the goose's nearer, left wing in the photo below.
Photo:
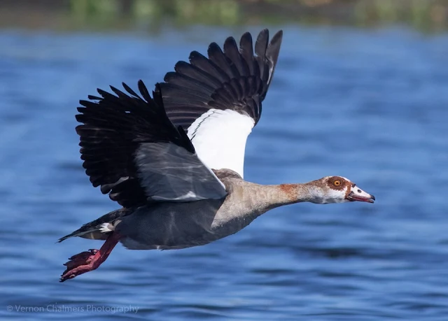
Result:
{"label": "shaded grey inner patch on the goose's nearer, left wing", "polygon": [[174,143],[142,143],[135,160],[149,199],[198,201],[227,195],[221,180],[196,154]]}

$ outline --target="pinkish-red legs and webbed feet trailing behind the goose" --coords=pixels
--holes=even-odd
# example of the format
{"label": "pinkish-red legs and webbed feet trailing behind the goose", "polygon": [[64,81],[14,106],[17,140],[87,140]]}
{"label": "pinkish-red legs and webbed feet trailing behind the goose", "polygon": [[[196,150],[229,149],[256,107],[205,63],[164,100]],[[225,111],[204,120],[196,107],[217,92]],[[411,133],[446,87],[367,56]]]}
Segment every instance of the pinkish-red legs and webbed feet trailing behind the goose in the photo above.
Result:
{"label": "pinkish-red legs and webbed feet trailing behind the goose", "polygon": [[106,261],[109,254],[111,254],[115,245],[120,241],[120,234],[113,232],[104,242],[99,250],[89,250],[88,252],[80,252],[77,255],[69,258],[69,262],[64,264],[67,269],[62,273],[60,282],[74,278],[88,271],[97,269],[104,261]]}

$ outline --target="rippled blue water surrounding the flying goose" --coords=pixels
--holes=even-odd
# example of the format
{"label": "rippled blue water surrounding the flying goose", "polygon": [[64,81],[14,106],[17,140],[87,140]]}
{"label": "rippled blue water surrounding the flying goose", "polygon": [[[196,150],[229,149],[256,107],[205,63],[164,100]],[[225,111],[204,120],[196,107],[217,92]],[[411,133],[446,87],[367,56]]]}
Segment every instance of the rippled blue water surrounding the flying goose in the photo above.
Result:
{"label": "rippled blue water surrounding the flying goose", "polygon": [[102,243],[57,238],[118,207],[81,167],[78,99],[151,87],[246,28],[0,31],[1,320],[448,320],[447,34],[283,29],[246,180],[340,175],[376,204],[285,206],[186,250],[118,246],[65,283],[66,258]]}

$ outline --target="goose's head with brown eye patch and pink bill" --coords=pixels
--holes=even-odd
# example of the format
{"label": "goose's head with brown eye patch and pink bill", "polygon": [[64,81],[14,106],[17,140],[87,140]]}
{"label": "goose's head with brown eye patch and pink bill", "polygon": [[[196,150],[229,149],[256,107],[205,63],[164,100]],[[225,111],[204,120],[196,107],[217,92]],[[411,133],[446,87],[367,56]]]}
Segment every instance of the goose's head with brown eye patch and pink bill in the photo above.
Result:
{"label": "goose's head with brown eye patch and pink bill", "polygon": [[366,201],[373,203],[375,197],[364,192],[355,183],[342,176],[327,176],[320,180],[313,180],[306,185],[311,185],[312,198],[310,201],[316,204],[344,203],[346,201]]}

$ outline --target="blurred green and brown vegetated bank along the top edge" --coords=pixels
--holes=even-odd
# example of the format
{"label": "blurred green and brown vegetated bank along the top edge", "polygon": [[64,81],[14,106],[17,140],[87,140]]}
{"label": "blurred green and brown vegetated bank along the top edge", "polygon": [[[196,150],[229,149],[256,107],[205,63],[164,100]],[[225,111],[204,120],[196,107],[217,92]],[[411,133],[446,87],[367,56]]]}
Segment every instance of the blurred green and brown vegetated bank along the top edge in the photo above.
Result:
{"label": "blurred green and brown vegetated bank along the top edge", "polygon": [[[29,24],[34,28],[32,23],[52,29],[151,30],[162,24],[178,27],[188,24],[358,27],[407,24],[420,31],[448,29],[448,0],[47,0],[29,3],[32,6],[20,6],[20,13],[18,6],[11,11],[0,3],[0,27]],[[2,11],[8,14],[1,15]],[[23,18],[28,16],[34,20]]]}

